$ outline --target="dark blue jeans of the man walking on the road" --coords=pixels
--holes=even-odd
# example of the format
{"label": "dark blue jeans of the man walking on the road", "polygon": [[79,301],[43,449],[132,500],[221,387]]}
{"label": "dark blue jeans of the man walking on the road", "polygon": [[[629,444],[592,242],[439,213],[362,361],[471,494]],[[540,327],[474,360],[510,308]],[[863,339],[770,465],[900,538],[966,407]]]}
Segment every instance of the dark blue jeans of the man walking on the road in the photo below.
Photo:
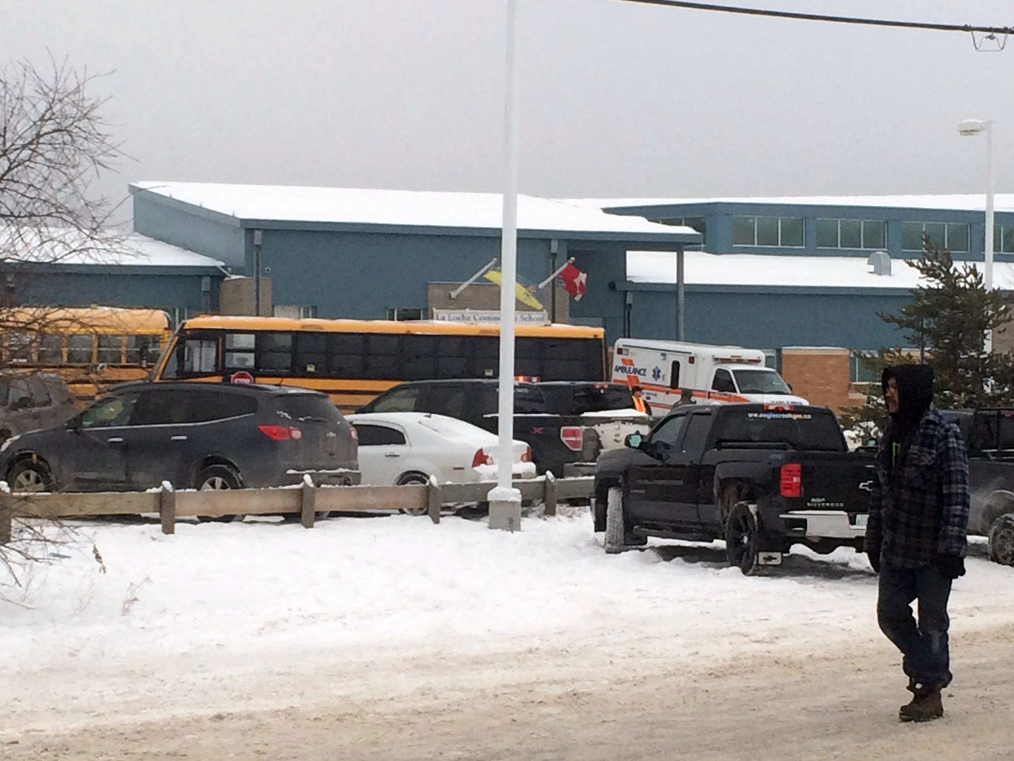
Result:
{"label": "dark blue jeans of the man walking on the road", "polygon": [[[901,668],[910,679],[930,687],[950,684],[947,643],[947,598],[951,580],[936,566],[898,568],[883,563],[877,599],[877,622],[904,656]],[[919,625],[911,605],[919,601]]]}

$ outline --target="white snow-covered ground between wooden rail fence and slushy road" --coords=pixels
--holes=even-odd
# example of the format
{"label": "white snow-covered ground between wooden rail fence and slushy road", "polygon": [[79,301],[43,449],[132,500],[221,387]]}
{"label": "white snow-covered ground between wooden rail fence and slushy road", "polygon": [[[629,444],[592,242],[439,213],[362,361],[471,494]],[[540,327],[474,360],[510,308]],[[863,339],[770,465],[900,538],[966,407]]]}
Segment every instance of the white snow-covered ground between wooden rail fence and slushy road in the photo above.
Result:
{"label": "white snow-covered ground between wooden rail fence and slushy road", "polygon": [[[161,684],[161,705],[175,710],[186,664],[202,671],[190,708],[210,710],[237,670],[305,653],[369,666],[360,689],[376,694],[391,664],[427,653],[557,647],[592,668],[624,653],[671,664],[879,637],[876,577],[852,550],[799,550],[771,575],[744,577],[725,566],[720,543],[607,556],[590,523],[587,512],[531,517],[507,534],[459,517],[339,517],[310,531],[247,520],[179,524],[175,536],[154,523],[82,524],[75,545],[0,603],[0,704],[26,727],[45,723],[47,701],[95,694],[96,682],[139,664],[134,688],[127,677],[111,683],[121,701],[92,715],[141,703],[151,715],[155,706],[126,694],[142,680]],[[954,584],[956,630],[1014,618],[1014,569],[972,550]]]}

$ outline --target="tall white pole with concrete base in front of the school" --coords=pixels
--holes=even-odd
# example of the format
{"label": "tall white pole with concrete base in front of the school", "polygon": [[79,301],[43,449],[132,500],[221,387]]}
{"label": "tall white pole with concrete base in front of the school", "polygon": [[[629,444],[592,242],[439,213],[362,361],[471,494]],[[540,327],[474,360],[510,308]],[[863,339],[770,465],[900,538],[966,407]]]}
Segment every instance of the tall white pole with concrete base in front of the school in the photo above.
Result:
{"label": "tall white pole with concrete base in front of the school", "polygon": [[503,232],[500,261],[500,399],[497,486],[490,491],[490,528],[521,528],[521,492],[514,488],[514,301],[517,270],[517,83],[514,76],[514,21],[517,0],[507,0],[507,60],[504,88]]}

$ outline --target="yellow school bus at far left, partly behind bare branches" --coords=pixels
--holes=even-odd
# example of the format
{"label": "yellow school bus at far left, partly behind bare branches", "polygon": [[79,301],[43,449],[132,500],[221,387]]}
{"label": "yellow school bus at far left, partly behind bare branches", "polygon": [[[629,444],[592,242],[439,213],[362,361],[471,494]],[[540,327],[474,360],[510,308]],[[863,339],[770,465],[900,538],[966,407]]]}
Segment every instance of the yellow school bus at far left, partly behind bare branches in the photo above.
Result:
{"label": "yellow school bus at far left, partly behind bare branches", "polygon": [[59,374],[80,406],[115,384],[146,377],[171,335],[168,316],[159,309],[4,309],[0,362]]}

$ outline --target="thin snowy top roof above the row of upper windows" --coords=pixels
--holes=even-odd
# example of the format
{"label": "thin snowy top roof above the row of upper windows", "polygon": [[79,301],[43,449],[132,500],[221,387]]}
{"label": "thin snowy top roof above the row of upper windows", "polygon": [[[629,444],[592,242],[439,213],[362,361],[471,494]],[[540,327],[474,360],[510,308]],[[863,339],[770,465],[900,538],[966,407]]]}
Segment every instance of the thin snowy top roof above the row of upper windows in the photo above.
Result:
{"label": "thin snowy top roof above the row of upper windows", "polygon": [[[907,195],[907,196],[772,196],[718,198],[571,198],[565,203],[589,209],[612,209],[640,206],[682,206],[692,204],[771,204],[784,206],[861,206],[890,209],[930,209],[941,211],[983,211],[984,194]],[[997,211],[1014,211],[1014,193],[994,197]]]}

